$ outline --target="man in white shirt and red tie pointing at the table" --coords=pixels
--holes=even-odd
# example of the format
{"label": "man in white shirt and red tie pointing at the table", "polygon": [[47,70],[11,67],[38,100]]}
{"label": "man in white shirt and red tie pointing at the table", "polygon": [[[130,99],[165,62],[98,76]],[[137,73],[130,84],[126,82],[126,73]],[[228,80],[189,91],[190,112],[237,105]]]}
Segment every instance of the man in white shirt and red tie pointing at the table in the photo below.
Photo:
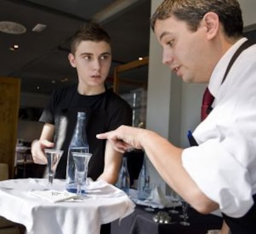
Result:
{"label": "man in white shirt and red tie pointing at the table", "polygon": [[126,126],[97,137],[108,138],[121,152],[144,149],[194,209],[203,214],[220,209],[233,234],[255,233],[256,45],[236,54],[247,41],[239,3],[165,0],[151,27],[163,63],[185,82],[209,83],[215,96],[213,111],[193,133],[198,146],[177,148],[155,132]]}

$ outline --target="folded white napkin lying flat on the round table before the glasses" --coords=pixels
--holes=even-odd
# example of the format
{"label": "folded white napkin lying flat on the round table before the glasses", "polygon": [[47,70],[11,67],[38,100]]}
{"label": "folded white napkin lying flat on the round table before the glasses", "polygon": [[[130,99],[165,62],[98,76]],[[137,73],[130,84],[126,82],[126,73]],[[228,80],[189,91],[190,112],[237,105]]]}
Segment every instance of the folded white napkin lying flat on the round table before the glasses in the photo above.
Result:
{"label": "folded white napkin lying flat on the round table before the glasses", "polygon": [[30,194],[37,196],[38,198],[45,199],[51,203],[58,203],[59,201],[65,201],[70,198],[75,198],[77,194],[69,193],[68,191],[58,190],[38,190],[30,191]]}

